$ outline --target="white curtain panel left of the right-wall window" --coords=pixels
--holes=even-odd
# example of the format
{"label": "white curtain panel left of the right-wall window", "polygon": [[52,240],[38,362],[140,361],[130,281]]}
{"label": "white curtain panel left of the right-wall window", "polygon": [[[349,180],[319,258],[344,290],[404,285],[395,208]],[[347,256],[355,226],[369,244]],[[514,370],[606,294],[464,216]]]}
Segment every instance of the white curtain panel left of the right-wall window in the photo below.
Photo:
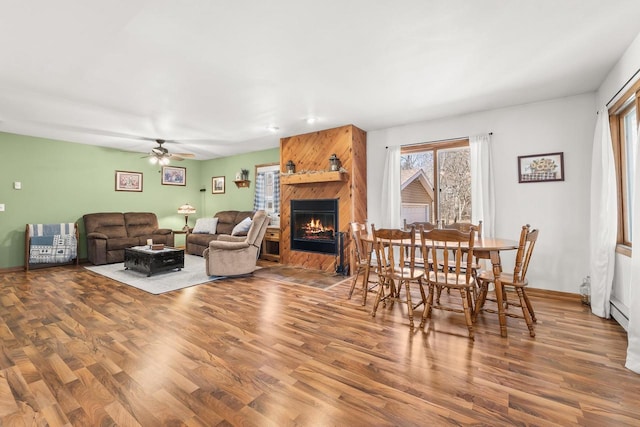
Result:
{"label": "white curtain panel left of the right-wall window", "polygon": [[609,318],[618,230],[616,172],[606,107],[598,112],[591,157],[591,311]]}

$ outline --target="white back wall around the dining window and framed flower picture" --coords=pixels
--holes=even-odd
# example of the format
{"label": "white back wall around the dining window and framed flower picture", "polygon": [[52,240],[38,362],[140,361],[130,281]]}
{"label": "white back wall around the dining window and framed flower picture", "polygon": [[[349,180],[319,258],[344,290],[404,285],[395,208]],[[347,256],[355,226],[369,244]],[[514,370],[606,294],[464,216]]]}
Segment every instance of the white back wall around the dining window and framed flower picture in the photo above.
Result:
{"label": "white back wall around the dining window and framed flower picture", "polygon": [[[540,229],[530,286],[578,293],[588,274],[589,176],[595,93],[425,121],[367,133],[369,222],[382,217],[380,189],[386,146],[493,132],[497,165],[497,237],[517,240],[523,224]],[[564,152],[565,180],[518,183],[517,157]],[[513,251],[502,256],[513,268]]]}

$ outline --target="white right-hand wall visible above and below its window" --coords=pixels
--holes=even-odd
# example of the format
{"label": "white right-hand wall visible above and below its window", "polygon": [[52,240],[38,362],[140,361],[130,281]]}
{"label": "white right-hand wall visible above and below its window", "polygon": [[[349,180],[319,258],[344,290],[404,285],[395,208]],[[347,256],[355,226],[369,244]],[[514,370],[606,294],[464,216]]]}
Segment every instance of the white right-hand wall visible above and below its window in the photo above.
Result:
{"label": "white right-hand wall visible above and below its window", "polygon": [[[626,50],[622,58],[609,72],[604,82],[598,89],[597,108],[603,107],[623,87],[623,85],[640,69],[640,34]],[[624,92],[630,85],[640,79],[636,76],[633,81],[621,91]],[[619,94],[612,100],[613,104],[622,95]],[[610,105],[611,105],[610,104]],[[611,302],[626,318],[629,317],[629,304],[631,298],[631,258],[626,255],[616,254],[616,267],[611,289]],[[627,321],[619,318],[612,310],[614,318],[626,328]]]}

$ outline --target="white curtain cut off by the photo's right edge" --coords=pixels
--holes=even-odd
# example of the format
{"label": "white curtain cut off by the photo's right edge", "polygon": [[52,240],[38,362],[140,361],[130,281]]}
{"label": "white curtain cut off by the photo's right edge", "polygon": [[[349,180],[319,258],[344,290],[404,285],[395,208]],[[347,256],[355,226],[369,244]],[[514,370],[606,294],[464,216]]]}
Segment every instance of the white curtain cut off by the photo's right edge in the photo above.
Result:
{"label": "white curtain cut off by the photo's right edge", "polygon": [[640,138],[640,128],[636,134],[635,176],[633,186],[632,236],[635,249],[631,252],[631,286],[629,291],[629,326],[627,328],[627,362],[628,369],[640,374],[640,185],[638,185],[638,169],[640,168],[640,149],[637,141]]}

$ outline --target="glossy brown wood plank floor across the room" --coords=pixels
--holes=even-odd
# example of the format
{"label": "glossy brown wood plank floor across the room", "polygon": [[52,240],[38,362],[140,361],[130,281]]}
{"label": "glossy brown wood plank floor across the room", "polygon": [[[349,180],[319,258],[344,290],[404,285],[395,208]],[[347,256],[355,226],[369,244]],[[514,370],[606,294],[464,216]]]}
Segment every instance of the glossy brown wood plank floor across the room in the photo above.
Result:
{"label": "glossy brown wood plank floor across the room", "polygon": [[[82,267],[0,274],[2,426],[640,425],[626,334],[573,296],[538,323],[249,277],[164,295]],[[417,310],[421,313],[421,309]]]}

